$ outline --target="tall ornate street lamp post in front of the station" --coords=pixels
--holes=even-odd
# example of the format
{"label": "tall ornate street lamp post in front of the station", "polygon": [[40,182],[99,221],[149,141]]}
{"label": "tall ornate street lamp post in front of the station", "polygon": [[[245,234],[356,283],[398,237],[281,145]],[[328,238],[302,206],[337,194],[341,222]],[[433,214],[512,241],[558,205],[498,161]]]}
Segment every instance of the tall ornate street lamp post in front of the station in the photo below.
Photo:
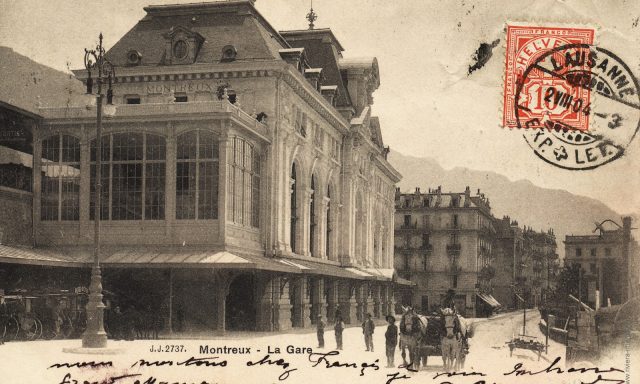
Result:
{"label": "tall ornate street lamp post in front of the station", "polygon": [[95,173],[95,217],[93,267],[91,268],[91,285],[89,286],[89,302],[87,303],[87,329],[82,335],[83,348],[105,348],[107,333],[104,330],[104,308],[102,302],[102,273],[100,271],[100,213],[102,205],[102,84],[106,82],[107,104],[112,104],[113,91],[111,85],[115,78],[113,65],[104,57],[102,33],[96,49],[86,49],[84,66],[87,69],[87,94],[93,94],[92,71],[97,70],[95,80],[98,85],[96,112],[96,173]]}

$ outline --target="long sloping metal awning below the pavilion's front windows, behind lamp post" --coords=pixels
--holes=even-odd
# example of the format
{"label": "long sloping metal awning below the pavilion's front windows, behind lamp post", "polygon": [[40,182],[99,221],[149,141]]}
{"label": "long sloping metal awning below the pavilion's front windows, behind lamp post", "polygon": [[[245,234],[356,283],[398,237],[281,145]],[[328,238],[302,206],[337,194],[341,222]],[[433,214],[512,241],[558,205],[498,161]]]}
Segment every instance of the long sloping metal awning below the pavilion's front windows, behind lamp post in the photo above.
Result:
{"label": "long sloping metal awning below the pavilion's front windows, behind lamp post", "polygon": [[[0,245],[0,262],[61,267],[88,267],[93,262],[85,248],[21,248]],[[114,268],[218,268],[260,269],[300,273],[300,269],[264,256],[237,255],[228,251],[172,248],[103,248],[100,263]]]}

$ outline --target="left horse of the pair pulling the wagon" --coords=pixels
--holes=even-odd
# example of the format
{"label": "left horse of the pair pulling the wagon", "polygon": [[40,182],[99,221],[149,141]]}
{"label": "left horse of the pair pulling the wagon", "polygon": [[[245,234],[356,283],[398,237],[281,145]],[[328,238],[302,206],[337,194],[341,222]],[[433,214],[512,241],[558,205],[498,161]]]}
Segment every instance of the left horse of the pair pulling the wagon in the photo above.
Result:
{"label": "left horse of the pair pulling the wagon", "polygon": [[[403,361],[401,367],[417,371],[420,368],[420,344],[426,333],[428,320],[415,313],[411,307],[403,307],[403,311],[400,319],[400,354]],[[409,351],[409,363],[406,350]]]}

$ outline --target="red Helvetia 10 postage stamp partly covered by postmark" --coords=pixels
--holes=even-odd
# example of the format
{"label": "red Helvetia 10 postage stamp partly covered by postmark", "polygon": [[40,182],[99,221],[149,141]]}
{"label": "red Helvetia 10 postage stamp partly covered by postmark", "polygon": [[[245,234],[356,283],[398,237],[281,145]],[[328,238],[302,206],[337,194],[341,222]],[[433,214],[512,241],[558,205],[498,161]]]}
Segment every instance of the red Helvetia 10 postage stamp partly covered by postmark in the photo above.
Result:
{"label": "red Helvetia 10 postage stamp partly covered by postmark", "polygon": [[[536,64],[540,57],[554,49],[570,44],[593,44],[593,39],[594,30],[587,28],[508,25],[503,126],[529,128],[529,125],[519,125],[519,121],[539,121],[540,124],[534,124],[539,128],[544,126],[544,121],[554,121],[572,130],[588,130],[589,89],[572,86],[566,76],[549,73]],[[558,61],[564,59],[558,57]],[[587,69],[587,60],[581,66]]]}

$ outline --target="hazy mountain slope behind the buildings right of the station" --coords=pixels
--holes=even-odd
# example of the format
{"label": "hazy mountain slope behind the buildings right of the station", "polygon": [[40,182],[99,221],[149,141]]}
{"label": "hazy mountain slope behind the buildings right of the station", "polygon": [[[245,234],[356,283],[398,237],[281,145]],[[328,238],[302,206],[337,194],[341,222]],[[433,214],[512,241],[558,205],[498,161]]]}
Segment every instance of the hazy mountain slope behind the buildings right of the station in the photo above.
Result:
{"label": "hazy mountain slope behind the buildings right of the station", "polygon": [[478,188],[489,198],[491,211],[497,218],[508,215],[535,230],[553,228],[558,254],[564,257],[566,235],[591,234],[594,222],[612,219],[620,222],[620,214],[604,203],[557,189],[541,188],[528,180],[511,181],[491,171],[456,167],[444,169],[432,158],[418,158],[392,151],[389,162],[402,174],[402,192],[422,191],[442,186],[443,192],[463,192],[468,185],[472,194]]}

